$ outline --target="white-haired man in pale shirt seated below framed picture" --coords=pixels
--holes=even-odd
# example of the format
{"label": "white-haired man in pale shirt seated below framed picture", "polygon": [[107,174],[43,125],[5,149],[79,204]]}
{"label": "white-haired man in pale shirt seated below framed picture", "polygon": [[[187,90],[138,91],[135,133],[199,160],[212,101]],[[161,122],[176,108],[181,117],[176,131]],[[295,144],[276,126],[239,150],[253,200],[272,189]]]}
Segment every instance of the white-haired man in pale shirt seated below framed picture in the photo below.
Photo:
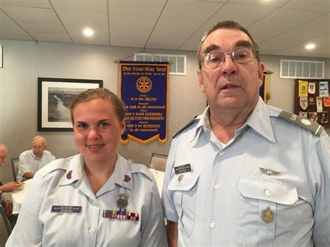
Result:
{"label": "white-haired man in pale shirt seated below framed picture", "polygon": [[44,137],[33,138],[32,150],[24,151],[19,155],[17,181],[23,182],[33,178],[37,170],[55,160],[54,155],[46,148],[47,143]]}

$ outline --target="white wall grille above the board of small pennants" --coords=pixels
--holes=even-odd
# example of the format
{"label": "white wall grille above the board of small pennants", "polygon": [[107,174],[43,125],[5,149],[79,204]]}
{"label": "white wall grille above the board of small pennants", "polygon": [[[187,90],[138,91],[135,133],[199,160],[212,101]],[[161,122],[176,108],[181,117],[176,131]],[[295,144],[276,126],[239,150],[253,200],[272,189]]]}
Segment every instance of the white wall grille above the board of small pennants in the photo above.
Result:
{"label": "white wall grille above the board of small pennants", "polygon": [[280,78],[324,79],[324,62],[281,59]]}

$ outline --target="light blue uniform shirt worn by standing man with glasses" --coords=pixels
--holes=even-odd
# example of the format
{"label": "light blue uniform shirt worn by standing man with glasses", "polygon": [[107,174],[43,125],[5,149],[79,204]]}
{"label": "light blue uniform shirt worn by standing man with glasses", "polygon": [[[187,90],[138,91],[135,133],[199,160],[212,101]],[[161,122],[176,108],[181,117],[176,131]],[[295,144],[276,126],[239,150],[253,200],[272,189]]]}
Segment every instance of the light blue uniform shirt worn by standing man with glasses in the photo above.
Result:
{"label": "light blue uniform shirt worn by standing man with glasses", "polygon": [[[330,246],[329,136],[279,113],[259,99],[222,148],[206,109],[173,140],[162,201],[167,220],[178,222],[179,246]],[[175,174],[184,164],[192,171]]]}

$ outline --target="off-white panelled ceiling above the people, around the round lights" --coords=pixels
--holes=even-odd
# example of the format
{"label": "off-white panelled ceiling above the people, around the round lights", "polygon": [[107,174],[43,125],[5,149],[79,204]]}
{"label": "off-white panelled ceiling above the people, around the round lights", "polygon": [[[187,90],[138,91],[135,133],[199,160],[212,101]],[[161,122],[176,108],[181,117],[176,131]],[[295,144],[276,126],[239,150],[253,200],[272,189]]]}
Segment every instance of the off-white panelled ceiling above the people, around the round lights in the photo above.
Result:
{"label": "off-white panelled ceiling above the people, around the round lights", "polygon": [[330,58],[330,0],[0,0],[0,39],[195,51],[226,19],[262,54]]}

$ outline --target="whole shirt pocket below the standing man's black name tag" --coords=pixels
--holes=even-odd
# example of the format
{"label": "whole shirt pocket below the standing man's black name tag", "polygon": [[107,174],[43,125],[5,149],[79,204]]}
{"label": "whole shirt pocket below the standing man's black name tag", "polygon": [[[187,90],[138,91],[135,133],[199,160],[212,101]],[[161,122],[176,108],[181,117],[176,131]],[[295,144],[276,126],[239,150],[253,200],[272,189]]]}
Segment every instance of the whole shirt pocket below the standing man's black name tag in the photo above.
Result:
{"label": "whole shirt pocket below the standing man's black name tag", "polygon": [[[182,179],[179,179],[182,175]],[[187,237],[194,230],[198,178],[199,173],[180,173],[175,174],[168,184],[168,190],[173,191],[173,201],[179,218],[178,228]]]}

